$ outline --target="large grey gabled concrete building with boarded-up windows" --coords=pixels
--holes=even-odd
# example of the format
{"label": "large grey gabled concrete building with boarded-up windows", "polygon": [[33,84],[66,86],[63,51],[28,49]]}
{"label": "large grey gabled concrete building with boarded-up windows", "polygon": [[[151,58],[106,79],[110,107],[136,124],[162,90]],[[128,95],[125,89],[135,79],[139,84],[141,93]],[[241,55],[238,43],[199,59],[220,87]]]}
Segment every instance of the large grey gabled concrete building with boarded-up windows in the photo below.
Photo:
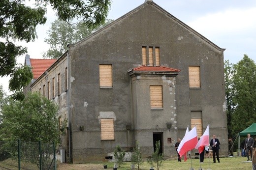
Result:
{"label": "large grey gabled concrete building with boarded-up windows", "polygon": [[147,157],[157,141],[176,157],[187,126],[200,138],[208,124],[227,156],[225,49],[152,0],[68,47],[30,85],[60,107],[67,160],[102,161],[136,142]]}

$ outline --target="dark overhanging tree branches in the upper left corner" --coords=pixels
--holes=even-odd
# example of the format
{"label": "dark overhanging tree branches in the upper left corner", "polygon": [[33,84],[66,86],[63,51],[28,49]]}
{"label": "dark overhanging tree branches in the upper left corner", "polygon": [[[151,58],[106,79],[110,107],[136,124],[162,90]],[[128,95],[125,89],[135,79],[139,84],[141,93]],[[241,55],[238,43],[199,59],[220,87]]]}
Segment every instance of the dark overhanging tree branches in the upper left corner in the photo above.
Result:
{"label": "dark overhanging tree branches in the upper left corner", "polygon": [[[27,66],[16,66],[16,58],[27,53],[27,48],[16,46],[15,40],[31,42],[36,38],[36,26],[46,22],[46,5],[57,11],[61,20],[70,22],[80,18],[88,27],[104,23],[109,11],[110,0],[38,0],[35,7],[26,5],[26,0],[0,0],[0,76],[10,75],[17,80],[15,72]],[[27,79],[31,73],[27,71],[18,74],[23,85],[28,85]],[[24,75],[28,73],[28,75]],[[31,77],[32,79],[32,77]],[[13,87],[9,85],[9,87]],[[16,86],[18,88],[20,86]],[[12,88],[13,89],[13,88]],[[15,89],[19,94],[22,89]],[[20,96],[20,95],[18,95]]]}

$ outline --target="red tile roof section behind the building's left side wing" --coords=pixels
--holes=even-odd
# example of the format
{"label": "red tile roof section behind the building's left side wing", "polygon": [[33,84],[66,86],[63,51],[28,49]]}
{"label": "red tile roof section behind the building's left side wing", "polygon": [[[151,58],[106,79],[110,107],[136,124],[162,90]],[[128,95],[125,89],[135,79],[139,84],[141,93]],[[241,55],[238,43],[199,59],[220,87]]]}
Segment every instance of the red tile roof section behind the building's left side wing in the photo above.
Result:
{"label": "red tile roof section behind the building's left side wing", "polygon": [[57,59],[32,59],[30,58],[34,79],[40,77]]}

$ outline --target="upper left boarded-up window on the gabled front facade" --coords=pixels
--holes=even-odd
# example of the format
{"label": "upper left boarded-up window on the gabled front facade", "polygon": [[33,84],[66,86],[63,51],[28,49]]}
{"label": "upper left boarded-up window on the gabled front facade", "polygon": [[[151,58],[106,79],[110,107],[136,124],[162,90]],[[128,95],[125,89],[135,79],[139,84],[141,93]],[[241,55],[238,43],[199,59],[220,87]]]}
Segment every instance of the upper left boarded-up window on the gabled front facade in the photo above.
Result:
{"label": "upper left boarded-up window on the gabled front facade", "polygon": [[112,65],[99,65],[99,86],[112,87]]}

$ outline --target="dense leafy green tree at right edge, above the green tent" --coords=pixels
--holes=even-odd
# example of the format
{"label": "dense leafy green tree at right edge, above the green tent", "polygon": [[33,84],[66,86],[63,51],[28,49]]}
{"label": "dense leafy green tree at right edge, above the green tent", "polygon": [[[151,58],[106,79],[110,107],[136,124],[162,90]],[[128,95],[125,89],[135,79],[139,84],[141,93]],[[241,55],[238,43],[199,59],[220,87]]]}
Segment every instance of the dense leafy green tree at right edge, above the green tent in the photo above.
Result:
{"label": "dense leafy green tree at right edge, above the green tent", "polygon": [[235,111],[233,131],[238,133],[256,121],[256,64],[247,55],[234,64]]}

